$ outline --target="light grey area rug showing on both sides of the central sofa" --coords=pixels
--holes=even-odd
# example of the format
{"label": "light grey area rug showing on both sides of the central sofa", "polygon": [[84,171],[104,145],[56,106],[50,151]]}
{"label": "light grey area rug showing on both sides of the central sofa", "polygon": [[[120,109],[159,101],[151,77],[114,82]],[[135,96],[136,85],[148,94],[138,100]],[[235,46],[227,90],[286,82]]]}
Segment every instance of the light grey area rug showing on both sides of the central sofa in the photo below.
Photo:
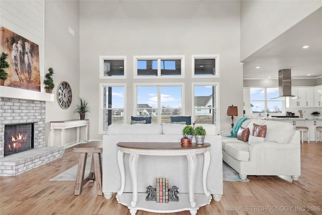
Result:
{"label": "light grey area rug showing on both sides of the central sofa", "polygon": [[[88,158],[86,161],[85,176],[90,174],[91,162],[92,162],[92,157]],[[77,168],[78,168],[78,164],[64,171],[63,173],[53,177],[49,181],[74,181],[76,180]],[[238,173],[234,169],[229,167],[225,162],[222,162],[222,177],[223,177],[223,181],[250,181],[247,178],[246,179],[239,178]]]}

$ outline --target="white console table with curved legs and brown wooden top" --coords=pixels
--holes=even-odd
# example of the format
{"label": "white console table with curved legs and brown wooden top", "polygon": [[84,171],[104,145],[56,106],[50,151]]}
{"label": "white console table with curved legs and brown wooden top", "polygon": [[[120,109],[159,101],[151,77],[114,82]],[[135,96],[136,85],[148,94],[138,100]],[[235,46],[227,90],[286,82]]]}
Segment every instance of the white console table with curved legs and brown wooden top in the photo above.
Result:
{"label": "white console table with curved legs and brown wooden top", "polygon": [[[130,209],[130,213],[134,215],[137,210],[145,210],[150,212],[178,212],[189,210],[192,215],[197,213],[199,207],[209,204],[211,201],[210,192],[207,190],[207,173],[210,164],[209,143],[203,145],[191,144],[182,146],[180,142],[118,142],[119,151],[117,160],[121,173],[121,188],[117,192],[117,201],[126,205]],[[124,153],[130,154],[129,168],[132,180],[133,193],[123,193],[125,186],[125,170],[124,170]],[[194,182],[197,165],[197,154],[203,154],[204,164],[202,172],[202,185],[204,194],[194,194]],[[181,193],[179,202],[156,203],[154,201],[145,201],[145,193],[137,193],[137,163],[140,155],[145,156],[186,156],[188,160],[188,180],[189,194]]]}

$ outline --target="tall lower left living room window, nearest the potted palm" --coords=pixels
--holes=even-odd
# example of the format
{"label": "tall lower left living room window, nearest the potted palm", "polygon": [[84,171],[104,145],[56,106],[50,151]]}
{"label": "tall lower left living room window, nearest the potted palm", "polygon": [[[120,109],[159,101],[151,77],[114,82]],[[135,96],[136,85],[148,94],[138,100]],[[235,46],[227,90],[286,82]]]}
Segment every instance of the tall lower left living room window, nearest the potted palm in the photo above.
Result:
{"label": "tall lower left living room window, nearest the potted palm", "polygon": [[106,131],[107,126],[114,123],[125,123],[125,86],[101,84],[101,131]]}

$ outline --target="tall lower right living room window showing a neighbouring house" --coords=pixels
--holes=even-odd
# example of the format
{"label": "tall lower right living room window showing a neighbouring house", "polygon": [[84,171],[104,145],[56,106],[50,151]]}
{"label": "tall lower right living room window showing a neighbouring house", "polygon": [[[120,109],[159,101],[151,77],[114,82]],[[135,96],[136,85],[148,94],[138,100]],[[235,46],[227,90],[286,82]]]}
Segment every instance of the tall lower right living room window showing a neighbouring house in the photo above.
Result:
{"label": "tall lower right living room window showing a neighbouring house", "polygon": [[194,120],[217,125],[217,84],[194,86]]}

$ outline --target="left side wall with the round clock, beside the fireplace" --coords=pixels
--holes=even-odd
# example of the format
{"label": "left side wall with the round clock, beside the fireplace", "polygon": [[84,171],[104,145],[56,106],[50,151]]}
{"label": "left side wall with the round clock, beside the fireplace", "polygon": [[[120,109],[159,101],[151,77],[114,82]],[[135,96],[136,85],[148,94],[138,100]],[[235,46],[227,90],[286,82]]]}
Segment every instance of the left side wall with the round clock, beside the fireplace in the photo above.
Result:
{"label": "left side wall with the round clock, beside the fireplace", "polygon": [[[78,1],[45,1],[45,69],[54,69],[54,102],[46,102],[46,140],[49,142],[50,121],[79,119],[74,114],[79,96],[79,16]],[[74,36],[68,32],[74,30]],[[68,109],[60,108],[57,102],[58,85],[66,81],[71,86],[72,102]],[[84,132],[82,132],[84,133]],[[54,146],[60,145],[60,131],[55,135]],[[81,136],[85,139],[85,135]],[[66,129],[66,142],[76,140],[75,128]]]}

